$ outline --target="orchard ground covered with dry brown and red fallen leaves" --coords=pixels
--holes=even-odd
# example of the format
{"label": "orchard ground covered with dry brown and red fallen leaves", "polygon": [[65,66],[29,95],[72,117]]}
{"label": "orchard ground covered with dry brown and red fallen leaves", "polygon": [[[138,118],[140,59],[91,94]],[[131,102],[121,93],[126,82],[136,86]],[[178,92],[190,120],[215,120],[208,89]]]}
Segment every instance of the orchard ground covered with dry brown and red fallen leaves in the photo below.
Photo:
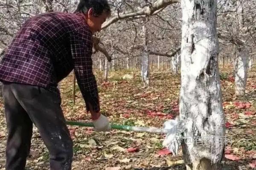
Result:
{"label": "orchard ground covered with dry brown and red fallen leaves", "polygon": [[[248,74],[246,95],[235,96],[233,68],[220,67],[227,144],[223,170],[250,170],[256,166],[256,68]],[[132,79],[123,79],[129,74]],[[101,111],[113,124],[162,127],[178,115],[180,75],[151,71],[151,87],[143,88],[140,71],[95,71]],[[126,76],[127,77],[127,76]],[[67,120],[90,121],[78,85],[73,103],[73,74],[61,82],[62,109]],[[181,150],[172,156],[162,147],[164,134],[111,130],[96,133],[90,127],[68,126],[73,138],[73,170],[185,170]],[[0,98],[0,170],[5,170],[6,122]],[[49,153],[34,127],[27,170],[48,170]]]}

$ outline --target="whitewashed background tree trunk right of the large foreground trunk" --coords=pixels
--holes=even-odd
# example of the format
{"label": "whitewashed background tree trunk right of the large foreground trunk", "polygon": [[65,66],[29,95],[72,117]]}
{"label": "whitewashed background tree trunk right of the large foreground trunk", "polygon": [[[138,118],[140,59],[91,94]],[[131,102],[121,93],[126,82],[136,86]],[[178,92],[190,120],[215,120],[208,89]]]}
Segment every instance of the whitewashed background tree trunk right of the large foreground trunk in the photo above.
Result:
{"label": "whitewashed background tree trunk right of the large foreground trunk", "polygon": [[235,66],[235,89],[237,96],[245,94],[248,70],[248,54],[245,46],[238,48]]}

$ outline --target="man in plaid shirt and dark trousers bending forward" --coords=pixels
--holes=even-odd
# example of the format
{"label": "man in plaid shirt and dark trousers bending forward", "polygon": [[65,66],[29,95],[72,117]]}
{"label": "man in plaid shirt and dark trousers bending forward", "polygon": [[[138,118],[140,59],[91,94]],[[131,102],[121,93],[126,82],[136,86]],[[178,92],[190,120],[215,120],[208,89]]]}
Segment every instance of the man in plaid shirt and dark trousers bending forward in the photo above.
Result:
{"label": "man in plaid shirt and dark trousers bending forward", "polygon": [[107,0],[81,0],[75,14],[45,13],[27,20],[0,62],[8,129],[6,170],[24,170],[32,123],[50,154],[51,170],[71,170],[73,144],[57,84],[75,70],[96,131],[110,130],[99,113],[92,71],[92,34],[110,15]]}

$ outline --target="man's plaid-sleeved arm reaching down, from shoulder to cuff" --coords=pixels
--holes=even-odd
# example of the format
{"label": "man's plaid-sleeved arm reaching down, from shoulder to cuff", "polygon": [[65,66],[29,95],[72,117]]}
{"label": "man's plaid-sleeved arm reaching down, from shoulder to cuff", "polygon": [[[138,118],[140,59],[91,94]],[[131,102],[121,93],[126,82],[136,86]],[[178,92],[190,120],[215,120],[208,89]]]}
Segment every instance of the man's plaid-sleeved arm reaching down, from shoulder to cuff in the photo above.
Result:
{"label": "man's plaid-sleeved arm reaching down, from shoulder to cuff", "polygon": [[97,119],[100,110],[99,94],[96,79],[93,75],[90,36],[90,32],[81,31],[80,33],[77,31],[70,35],[70,41],[76,79],[86,103],[86,109],[91,112],[92,119]]}

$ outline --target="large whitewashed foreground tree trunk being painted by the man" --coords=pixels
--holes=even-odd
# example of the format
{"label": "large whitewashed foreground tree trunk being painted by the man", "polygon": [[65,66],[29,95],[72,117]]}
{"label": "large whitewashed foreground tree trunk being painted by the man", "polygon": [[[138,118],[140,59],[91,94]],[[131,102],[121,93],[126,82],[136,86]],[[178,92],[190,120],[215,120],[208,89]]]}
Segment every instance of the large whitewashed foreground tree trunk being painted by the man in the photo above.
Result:
{"label": "large whitewashed foreground tree trunk being painted by the man", "polygon": [[219,136],[225,135],[225,120],[217,61],[217,0],[181,0],[181,8],[180,128],[183,137],[207,141],[182,140],[183,158],[187,170],[219,170],[224,150]]}

